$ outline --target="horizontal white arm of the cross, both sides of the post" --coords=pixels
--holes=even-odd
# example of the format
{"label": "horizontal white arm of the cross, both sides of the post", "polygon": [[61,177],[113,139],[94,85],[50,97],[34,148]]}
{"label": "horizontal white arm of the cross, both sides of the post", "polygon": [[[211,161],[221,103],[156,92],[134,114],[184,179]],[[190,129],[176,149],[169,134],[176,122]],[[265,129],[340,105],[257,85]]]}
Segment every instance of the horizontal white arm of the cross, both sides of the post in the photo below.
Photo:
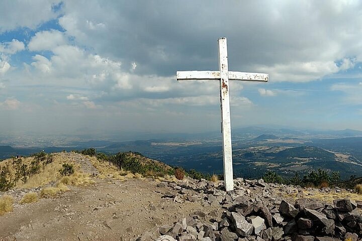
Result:
{"label": "horizontal white arm of the cross, both sides of the post", "polygon": [[[177,80],[220,80],[220,71],[177,71]],[[269,81],[268,74],[229,71],[229,80]]]}

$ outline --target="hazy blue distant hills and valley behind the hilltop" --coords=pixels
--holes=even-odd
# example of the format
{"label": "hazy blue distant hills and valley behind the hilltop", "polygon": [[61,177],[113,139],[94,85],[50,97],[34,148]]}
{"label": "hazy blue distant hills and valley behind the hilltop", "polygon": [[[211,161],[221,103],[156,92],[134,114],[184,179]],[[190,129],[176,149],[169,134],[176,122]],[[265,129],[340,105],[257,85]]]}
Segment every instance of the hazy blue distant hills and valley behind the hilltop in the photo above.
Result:
{"label": "hazy blue distant hills and valley behind the hilltop", "polygon": [[[343,178],[362,176],[362,132],[292,130],[249,127],[232,130],[234,173],[260,177],[267,170],[290,176],[323,168],[339,171]],[[109,154],[133,151],[171,166],[182,166],[205,173],[222,173],[221,134],[187,134],[150,140],[115,142],[108,140],[73,141],[65,147],[14,148],[0,146],[0,159],[40,152],[96,148]],[[3,141],[4,143],[4,141]]]}

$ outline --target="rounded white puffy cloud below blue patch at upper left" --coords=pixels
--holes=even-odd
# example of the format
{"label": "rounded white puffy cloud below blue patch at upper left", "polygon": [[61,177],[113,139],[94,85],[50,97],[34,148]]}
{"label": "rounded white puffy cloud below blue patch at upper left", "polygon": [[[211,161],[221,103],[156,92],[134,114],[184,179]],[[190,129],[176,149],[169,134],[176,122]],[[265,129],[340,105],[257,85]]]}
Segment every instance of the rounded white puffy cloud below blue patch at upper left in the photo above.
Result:
{"label": "rounded white puffy cloud below blue patch at upper left", "polygon": [[58,30],[42,31],[31,38],[28,48],[30,51],[52,50],[57,46],[66,45],[65,34]]}

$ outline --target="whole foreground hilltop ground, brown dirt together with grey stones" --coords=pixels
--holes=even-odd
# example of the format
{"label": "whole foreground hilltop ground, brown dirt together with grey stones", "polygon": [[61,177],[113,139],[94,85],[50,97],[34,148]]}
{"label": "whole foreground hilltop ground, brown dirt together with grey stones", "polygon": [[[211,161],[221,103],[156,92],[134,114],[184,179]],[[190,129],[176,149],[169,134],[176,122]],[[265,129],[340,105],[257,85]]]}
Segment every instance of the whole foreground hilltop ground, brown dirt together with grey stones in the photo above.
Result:
{"label": "whole foreground hilltop ground, brown dirt together with grey stones", "polygon": [[[97,178],[80,154],[62,153],[80,164],[96,184],[75,187],[55,198],[18,204],[31,190],[11,190],[14,211],[0,216],[0,240],[357,240],[359,201],[340,189],[306,190],[236,179],[235,191],[222,182],[186,178]],[[346,199],[322,202],[315,197]],[[323,196],[322,195],[322,196]],[[318,197],[319,197],[318,196]],[[350,196],[352,194],[350,193]],[[362,197],[362,196],[361,196]],[[314,199],[313,199],[314,198]],[[355,199],[355,198],[354,198]],[[362,198],[361,198],[362,199]]]}

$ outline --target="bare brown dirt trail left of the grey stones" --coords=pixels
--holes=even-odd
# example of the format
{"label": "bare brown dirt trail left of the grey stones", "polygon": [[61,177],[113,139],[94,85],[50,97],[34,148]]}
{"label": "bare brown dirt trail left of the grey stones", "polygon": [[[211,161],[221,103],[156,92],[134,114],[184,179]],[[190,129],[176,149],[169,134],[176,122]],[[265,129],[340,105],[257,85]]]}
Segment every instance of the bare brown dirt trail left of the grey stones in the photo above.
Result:
{"label": "bare brown dirt trail left of the grey stones", "polygon": [[[73,158],[88,173],[97,172],[82,155],[60,155]],[[162,198],[170,188],[157,187],[152,179],[94,181],[87,187],[69,186],[70,191],[55,198],[16,203],[13,212],[0,216],[0,240],[135,240],[196,210],[220,208]]]}

